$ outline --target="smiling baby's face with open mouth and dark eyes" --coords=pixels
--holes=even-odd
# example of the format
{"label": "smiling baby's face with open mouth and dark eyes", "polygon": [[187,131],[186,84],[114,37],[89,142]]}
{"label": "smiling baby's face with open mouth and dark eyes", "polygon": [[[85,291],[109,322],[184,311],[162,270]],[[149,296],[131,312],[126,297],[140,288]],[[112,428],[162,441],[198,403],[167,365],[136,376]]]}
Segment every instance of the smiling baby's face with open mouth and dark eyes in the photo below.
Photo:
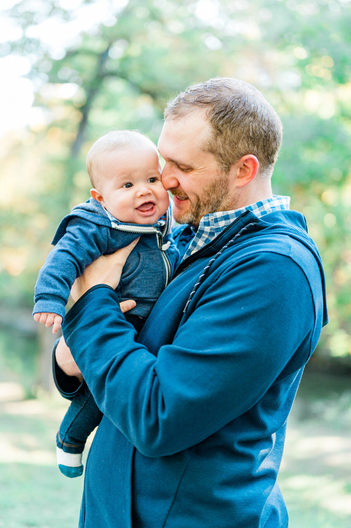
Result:
{"label": "smiling baby's face with open mouth and dark eyes", "polygon": [[99,173],[101,200],[95,199],[120,222],[153,224],[167,211],[169,196],[151,145],[130,145],[100,154]]}

